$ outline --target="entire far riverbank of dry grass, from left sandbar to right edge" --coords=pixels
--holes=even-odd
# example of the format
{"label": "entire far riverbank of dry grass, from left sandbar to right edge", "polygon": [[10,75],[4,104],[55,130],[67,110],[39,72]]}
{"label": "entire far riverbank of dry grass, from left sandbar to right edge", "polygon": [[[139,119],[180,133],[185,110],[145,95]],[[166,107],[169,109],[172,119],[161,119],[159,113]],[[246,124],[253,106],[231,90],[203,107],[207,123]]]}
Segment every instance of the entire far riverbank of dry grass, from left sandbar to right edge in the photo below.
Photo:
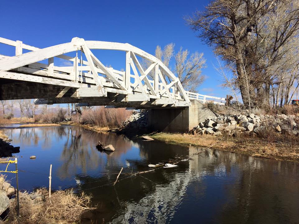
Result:
{"label": "entire far riverbank of dry grass, from left sandbar to right edge", "polygon": [[[57,126],[57,125],[72,125],[79,126],[95,132],[115,132],[125,134],[129,138],[136,138],[145,133],[137,133],[136,130],[111,129],[109,127],[92,126],[88,124],[79,124],[73,121],[64,121],[59,124],[24,124],[20,127],[42,127],[42,126]],[[164,141],[170,144],[192,145],[199,147],[211,147],[225,152],[235,152],[248,156],[270,158],[276,160],[295,161],[299,162],[299,146],[288,144],[287,142],[267,142],[267,140],[253,136],[215,136],[215,135],[192,135],[192,134],[173,134],[173,133],[154,133],[148,134],[151,138]]]}

